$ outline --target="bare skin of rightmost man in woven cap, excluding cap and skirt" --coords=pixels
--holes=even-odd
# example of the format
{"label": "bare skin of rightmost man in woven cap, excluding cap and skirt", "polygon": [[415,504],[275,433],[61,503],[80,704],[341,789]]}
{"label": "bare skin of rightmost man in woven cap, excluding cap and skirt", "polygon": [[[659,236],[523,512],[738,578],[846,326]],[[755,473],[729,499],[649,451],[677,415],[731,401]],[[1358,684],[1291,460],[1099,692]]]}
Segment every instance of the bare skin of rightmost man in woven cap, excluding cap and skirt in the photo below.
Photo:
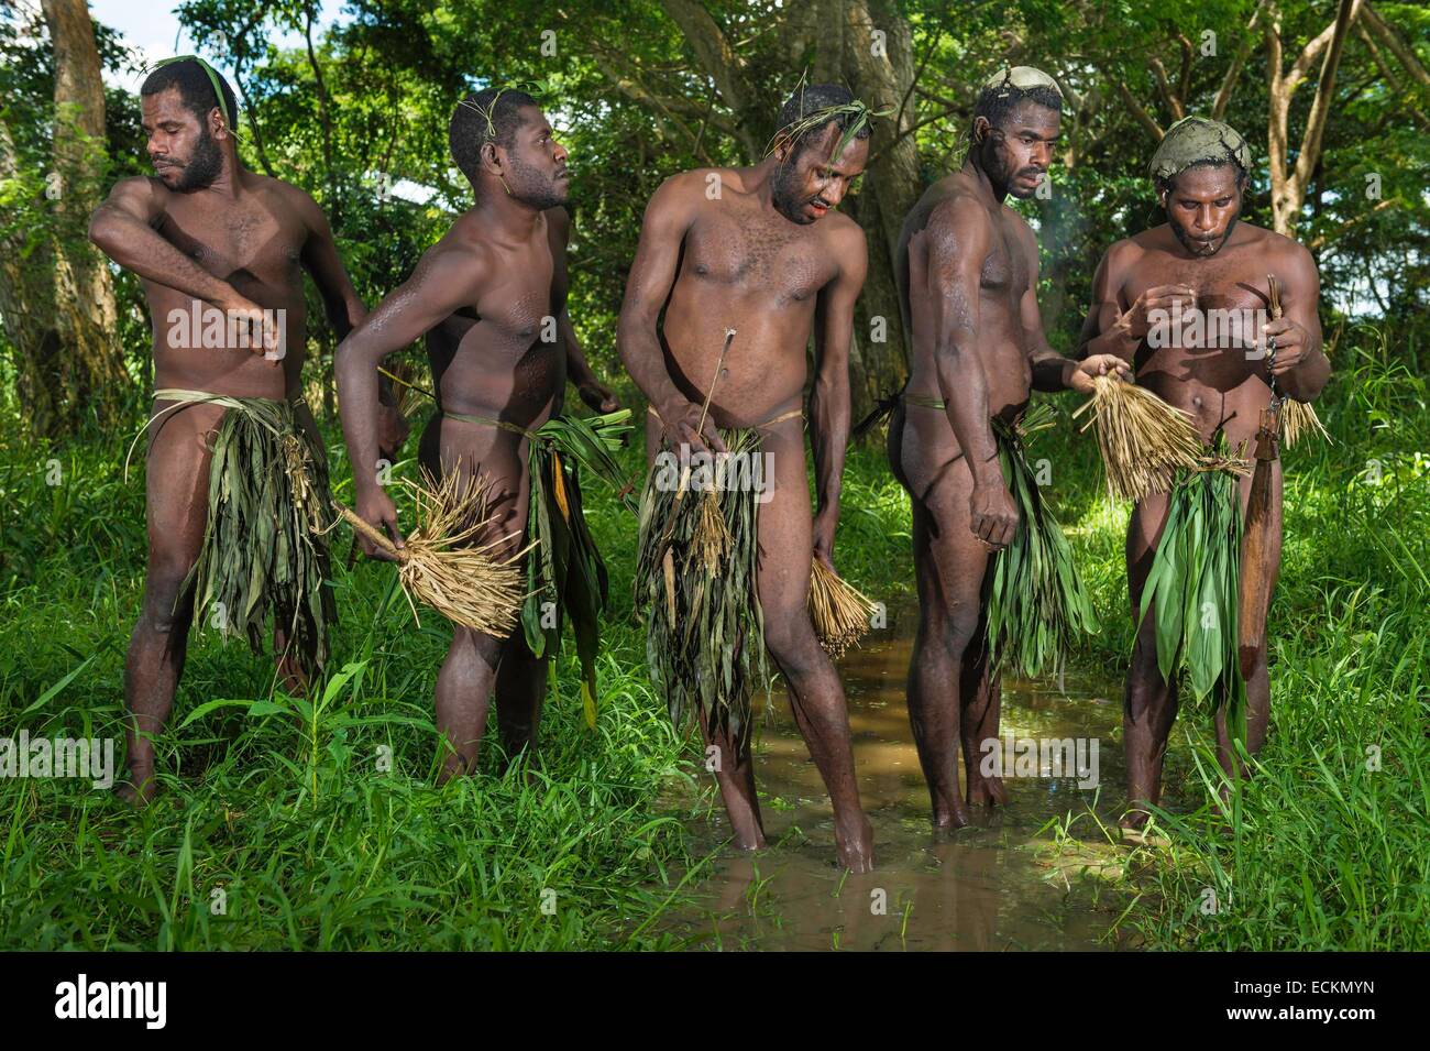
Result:
{"label": "bare skin of rightmost man in woven cap, excluding cap and skirt", "polygon": [[[1131,362],[1137,382],[1163,400],[1190,413],[1204,440],[1217,428],[1233,448],[1256,448],[1260,413],[1271,392],[1274,373],[1283,396],[1314,400],[1330,378],[1321,352],[1317,317],[1320,277],[1311,255],[1296,242],[1250,223],[1236,222],[1246,183],[1234,164],[1194,166],[1160,193],[1168,222],[1118,242],[1098,265],[1093,283],[1094,303],[1083,329],[1084,353],[1115,353]],[[1264,335],[1276,339],[1276,362],[1257,347],[1253,330],[1216,330],[1205,326],[1200,339],[1187,332],[1184,346],[1151,346],[1154,310],[1193,312],[1268,310],[1267,275],[1281,286],[1284,316],[1268,322]],[[1203,315],[1205,316],[1205,315]],[[1270,316],[1268,313],[1266,315]],[[1170,339],[1158,337],[1168,343]],[[1267,565],[1274,582],[1281,561],[1281,463],[1271,465],[1271,543]],[[1251,478],[1241,479],[1246,512]],[[1131,612],[1137,616],[1143,585],[1167,519],[1167,496],[1154,493],[1133,510],[1127,531],[1127,582]],[[1244,616],[1246,613],[1243,613]],[[1123,731],[1127,749],[1128,812],[1123,827],[1141,829],[1147,805],[1161,798],[1163,758],[1177,718],[1177,684],[1164,682],[1157,668],[1155,612],[1137,633],[1124,694]],[[1264,633],[1263,633],[1264,639]],[[1260,651],[1244,668],[1247,688],[1247,748],[1260,751],[1270,715],[1267,653]],[[1226,704],[1216,715],[1217,755],[1223,769],[1236,774],[1227,734]]]}

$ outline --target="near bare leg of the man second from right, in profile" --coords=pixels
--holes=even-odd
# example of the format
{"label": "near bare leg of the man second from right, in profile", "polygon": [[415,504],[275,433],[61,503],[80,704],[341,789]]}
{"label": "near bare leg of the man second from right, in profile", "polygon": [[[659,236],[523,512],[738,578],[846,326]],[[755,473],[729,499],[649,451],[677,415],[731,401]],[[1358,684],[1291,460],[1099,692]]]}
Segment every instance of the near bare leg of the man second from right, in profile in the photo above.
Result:
{"label": "near bare leg of the man second from right, in profile", "polygon": [[975,788],[980,801],[1002,795],[1001,782],[994,788],[978,774],[978,744],[998,735],[998,701],[981,659],[984,646],[975,642],[982,632],[988,548],[970,529],[968,468],[955,459],[954,442],[937,430],[947,432],[948,423],[930,410],[918,412],[928,419],[912,420],[899,409],[889,430],[894,473],[914,510],[918,632],[908,666],[908,718],[934,825],[961,828],[968,811],[958,792],[960,745],[970,801]]}

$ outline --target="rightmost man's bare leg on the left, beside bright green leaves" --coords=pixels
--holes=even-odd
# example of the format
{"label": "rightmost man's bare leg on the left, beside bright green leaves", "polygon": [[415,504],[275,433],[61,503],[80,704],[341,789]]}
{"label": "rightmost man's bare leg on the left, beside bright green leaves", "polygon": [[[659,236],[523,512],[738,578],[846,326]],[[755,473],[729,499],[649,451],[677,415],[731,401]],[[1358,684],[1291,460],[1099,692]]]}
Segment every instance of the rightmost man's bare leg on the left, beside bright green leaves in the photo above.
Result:
{"label": "rightmost man's bare leg on the left, beside bright green leaves", "polygon": [[[1154,493],[1137,505],[1127,528],[1127,583],[1133,618],[1151,572],[1157,542],[1167,522],[1167,496]],[[1145,806],[1161,801],[1163,759],[1177,719],[1177,678],[1167,682],[1157,666],[1157,611],[1148,608],[1138,625],[1123,692],[1123,749],[1127,754],[1127,814],[1121,827],[1138,831],[1150,816]]]}

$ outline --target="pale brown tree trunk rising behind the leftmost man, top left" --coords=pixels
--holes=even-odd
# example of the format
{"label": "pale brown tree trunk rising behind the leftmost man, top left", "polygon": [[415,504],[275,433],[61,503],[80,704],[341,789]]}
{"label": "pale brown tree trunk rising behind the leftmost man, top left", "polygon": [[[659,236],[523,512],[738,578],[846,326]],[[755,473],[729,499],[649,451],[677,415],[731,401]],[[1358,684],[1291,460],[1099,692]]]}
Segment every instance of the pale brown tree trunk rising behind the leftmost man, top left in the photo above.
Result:
{"label": "pale brown tree trunk rising behind the leftmost man, top left", "polygon": [[90,412],[102,426],[117,423],[132,380],[116,337],[109,265],[84,235],[107,166],[94,24],[84,0],[43,0],[43,10],[54,47],[54,322],[63,425],[73,430]]}

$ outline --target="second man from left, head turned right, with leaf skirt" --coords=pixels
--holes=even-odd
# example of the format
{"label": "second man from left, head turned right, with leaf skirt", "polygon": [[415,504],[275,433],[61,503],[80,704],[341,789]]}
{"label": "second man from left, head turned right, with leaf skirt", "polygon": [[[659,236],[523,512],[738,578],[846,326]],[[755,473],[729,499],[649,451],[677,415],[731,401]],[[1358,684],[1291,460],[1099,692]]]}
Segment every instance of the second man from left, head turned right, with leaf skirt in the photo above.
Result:
{"label": "second man from left, head turned right, with leaf skirt", "polygon": [[[435,478],[459,472],[485,479],[490,522],[473,543],[506,538],[499,558],[535,543],[522,628],[499,639],[453,626],[436,682],[436,722],[449,749],[442,781],[473,769],[493,686],[508,755],[535,742],[562,609],[572,619],[593,718],[605,566],[582,518],[575,458],[543,425],[561,415],[568,379],[588,405],[608,413],[588,439],[608,440],[608,426],[623,416],[612,413],[615,399],[586,366],[566,312],[566,149],[536,102],[509,89],[460,102],[449,142],[475,206],[337,347],[337,396],[360,518],[402,546],[396,508],[375,472],[375,376],[383,356],[425,335],[439,412],[422,439],[423,468]],[[576,418],[561,422],[588,426]],[[368,539],[362,545],[373,558],[390,558]]]}

